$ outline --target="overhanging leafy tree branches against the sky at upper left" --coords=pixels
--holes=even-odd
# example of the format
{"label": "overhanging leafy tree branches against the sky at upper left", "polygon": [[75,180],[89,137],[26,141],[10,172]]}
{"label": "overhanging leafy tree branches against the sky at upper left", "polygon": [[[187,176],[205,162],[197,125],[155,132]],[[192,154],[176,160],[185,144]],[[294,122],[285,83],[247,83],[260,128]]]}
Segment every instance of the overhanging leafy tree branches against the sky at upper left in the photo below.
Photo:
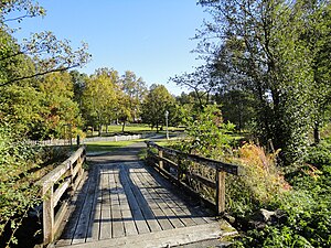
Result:
{"label": "overhanging leafy tree branches against the sky at upper left", "polygon": [[[26,1],[2,1],[0,6],[0,87],[19,83],[24,79],[35,78],[52,72],[63,72],[82,66],[89,61],[90,55],[86,53],[87,44],[74,51],[70,41],[57,40],[52,32],[34,33],[30,39],[24,39],[22,44],[12,37],[14,32],[10,29],[11,21],[21,22],[24,18],[44,15],[45,10],[33,0]],[[15,12],[17,17],[12,18]],[[7,19],[8,14],[11,18]],[[20,62],[29,56],[34,63],[34,69],[20,71],[17,73],[13,62]],[[6,65],[3,67],[3,65]],[[3,69],[6,68],[6,69]]]}

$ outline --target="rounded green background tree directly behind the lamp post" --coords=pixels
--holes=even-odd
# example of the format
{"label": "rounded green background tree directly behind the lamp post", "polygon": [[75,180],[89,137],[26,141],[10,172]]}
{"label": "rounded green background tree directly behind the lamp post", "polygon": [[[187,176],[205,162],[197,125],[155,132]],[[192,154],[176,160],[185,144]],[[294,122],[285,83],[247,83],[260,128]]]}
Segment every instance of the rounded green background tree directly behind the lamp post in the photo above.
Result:
{"label": "rounded green background tree directly behind the lamp post", "polygon": [[[151,125],[152,128],[156,127],[158,132],[159,126],[164,123],[166,110],[169,111],[173,105],[174,97],[163,85],[151,85],[142,104],[142,121]],[[173,114],[170,112],[169,119],[171,119],[171,115]]]}

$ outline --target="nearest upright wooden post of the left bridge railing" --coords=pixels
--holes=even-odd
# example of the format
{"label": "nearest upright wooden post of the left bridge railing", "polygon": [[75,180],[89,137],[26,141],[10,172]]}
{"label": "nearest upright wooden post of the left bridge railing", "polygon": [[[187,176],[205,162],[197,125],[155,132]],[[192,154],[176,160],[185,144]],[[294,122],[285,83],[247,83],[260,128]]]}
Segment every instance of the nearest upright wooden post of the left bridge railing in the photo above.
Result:
{"label": "nearest upright wooden post of the left bridge railing", "polygon": [[49,244],[54,239],[54,206],[53,206],[53,185],[45,188],[43,186],[43,230],[44,244]]}

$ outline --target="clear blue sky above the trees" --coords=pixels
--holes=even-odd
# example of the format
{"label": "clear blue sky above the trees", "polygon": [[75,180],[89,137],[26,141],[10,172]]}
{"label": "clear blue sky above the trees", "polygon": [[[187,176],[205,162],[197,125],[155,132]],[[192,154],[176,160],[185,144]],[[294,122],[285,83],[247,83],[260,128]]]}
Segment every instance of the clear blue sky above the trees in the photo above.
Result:
{"label": "clear blue sky above the trees", "polygon": [[169,78],[194,71],[197,54],[192,40],[206,13],[195,0],[39,0],[44,18],[25,19],[15,34],[21,37],[52,31],[77,47],[88,43],[92,62],[78,68],[93,74],[100,67],[132,71],[148,86],[163,84],[171,94],[184,89]]}

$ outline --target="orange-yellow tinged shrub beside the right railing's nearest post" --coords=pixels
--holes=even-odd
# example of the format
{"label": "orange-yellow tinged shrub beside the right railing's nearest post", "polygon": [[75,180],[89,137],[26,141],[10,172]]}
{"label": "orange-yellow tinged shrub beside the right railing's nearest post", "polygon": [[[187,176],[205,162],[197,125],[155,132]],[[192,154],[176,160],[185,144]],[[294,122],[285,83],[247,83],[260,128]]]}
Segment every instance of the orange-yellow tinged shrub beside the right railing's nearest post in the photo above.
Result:
{"label": "orange-yellow tinged shrub beside the right railing's nearest post", "polygon": [[278,151],[266,154],[254,143],[245,143],[238,150],[233,163],[241,164],[239,176],[227,176],[227,209],[235,216],[244,217],[270,204],[275,197],[288,191],[290,185],[276,166]]}

